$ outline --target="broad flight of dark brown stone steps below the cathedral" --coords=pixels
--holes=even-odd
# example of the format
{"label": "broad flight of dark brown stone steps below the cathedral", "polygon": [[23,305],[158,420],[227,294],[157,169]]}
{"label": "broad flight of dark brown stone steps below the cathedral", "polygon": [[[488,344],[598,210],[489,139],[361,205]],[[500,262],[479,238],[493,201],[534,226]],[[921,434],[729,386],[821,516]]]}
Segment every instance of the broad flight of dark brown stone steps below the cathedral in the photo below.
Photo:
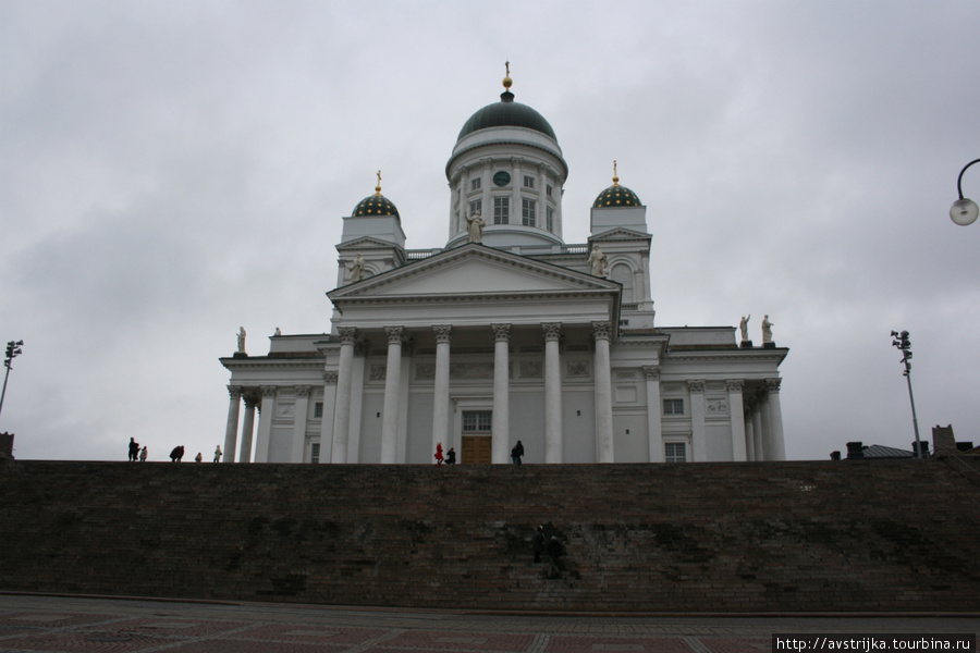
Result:
{"label": "broad flight of dark brown stone steps below the cathedral", "polygon": [[[0,590],[616,612],[980,611],[957,460],[0,461]],[[544,525],[565,555],[536,565]]]}

